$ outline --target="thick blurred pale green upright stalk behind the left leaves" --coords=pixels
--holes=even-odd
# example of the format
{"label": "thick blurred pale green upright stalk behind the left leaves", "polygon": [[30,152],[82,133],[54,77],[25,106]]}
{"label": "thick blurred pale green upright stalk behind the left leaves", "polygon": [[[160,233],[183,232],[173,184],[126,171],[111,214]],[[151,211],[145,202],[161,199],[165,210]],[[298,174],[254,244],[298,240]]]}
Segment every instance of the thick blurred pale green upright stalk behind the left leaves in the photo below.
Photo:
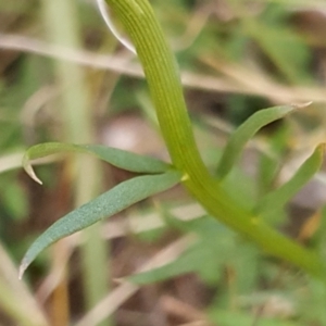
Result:
{"label": "thick blurred pale green upright stalk behind the left leaves", "polygon": [[[71,48],[80,47],[76,2],[72,0],[43,1],[47,32],[51,41]],[[93,126],[90,95],[84,71],[67,62],[57,62],[55,76],[63,90],[61,96],[61,116],[64,140],[75,143],[91,143]],[[90,156],[72,158],[75,205],[80,206],[98,192],[100,168]],[[96,305],[109,290],[106,242],[99,236],[101,224],[84,231],[87,238],[82,247],[83,279],[85,300],[88,309]],[[63,324],[62,324],[63,325]],[[110,325],[106,319],[101,325]]]}

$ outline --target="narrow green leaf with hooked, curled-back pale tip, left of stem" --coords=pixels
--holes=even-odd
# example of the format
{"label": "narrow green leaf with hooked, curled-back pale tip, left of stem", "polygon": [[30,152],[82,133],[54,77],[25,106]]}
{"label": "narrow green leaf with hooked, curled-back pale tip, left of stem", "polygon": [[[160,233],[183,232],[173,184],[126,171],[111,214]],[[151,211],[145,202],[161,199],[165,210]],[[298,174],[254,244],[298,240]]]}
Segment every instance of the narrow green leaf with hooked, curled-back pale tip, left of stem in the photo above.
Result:
{"label": "narrow green leaf with hooked, curled-back pale tip, left of stem", "polygon": [[116,148],[101,145],[73,145],[62,142],[45,142],[30,147],[23,158],[23,166],[34,180],[41,184],[41,180],[35,175],[30,161],[64,152],[95,154],[114,166],[136,173],[164,173],[171,167],[170,164],[158,159],[135,154]]}

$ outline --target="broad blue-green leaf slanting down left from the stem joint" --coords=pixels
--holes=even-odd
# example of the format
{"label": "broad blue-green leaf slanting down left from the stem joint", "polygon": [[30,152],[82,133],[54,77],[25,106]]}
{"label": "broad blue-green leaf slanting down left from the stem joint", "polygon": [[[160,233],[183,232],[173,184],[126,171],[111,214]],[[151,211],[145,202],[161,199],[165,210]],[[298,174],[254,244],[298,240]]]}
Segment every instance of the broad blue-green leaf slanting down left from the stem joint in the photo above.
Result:
{"label": "broad blue-green leaf slanting down left from the stem joint", "polygon": [[110,217],[149,196],[172,188],[180,179],[181,174],[177,171],[135,177],[66,214],[32,243],[21,263],[20,277],[23,276],[35,258],[53,242],[82,230],[104,217]]}

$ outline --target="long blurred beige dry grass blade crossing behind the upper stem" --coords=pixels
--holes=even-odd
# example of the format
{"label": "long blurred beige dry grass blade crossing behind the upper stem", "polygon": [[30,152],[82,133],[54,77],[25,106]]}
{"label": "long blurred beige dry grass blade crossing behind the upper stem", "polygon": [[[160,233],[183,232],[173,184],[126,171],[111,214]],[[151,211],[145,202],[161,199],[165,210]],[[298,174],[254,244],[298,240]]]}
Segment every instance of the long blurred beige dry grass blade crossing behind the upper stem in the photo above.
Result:
{"label": "long blurred beige dry grass blade crossing behind the upper stem", "polygon": [[[73,50],[52,46],[25,36],[7,34],[0,34],[0,49],[35,53],[143,78],[139,64],[130,63],[129,55],[122,57],[120,54],[117,57],[97,54],[85,50]],[[223,72],[226,77],[218,78],[215,76],[183,72],[181,77],[185,86],[208,91],[260,95],[276,102],[326,102],[325,92],[321,88],[288,87],[268,80],[266,76],[262,76],[251,70],[249,71],[248,68],[238,65],[229,63],[222,65],[221,62],[218,63],[215,60],[208,58],[202,59],[202,61],[216,71]],[[250,78],[248,76],[250,76]],[[252,82],[250,82],[250,79]]]}

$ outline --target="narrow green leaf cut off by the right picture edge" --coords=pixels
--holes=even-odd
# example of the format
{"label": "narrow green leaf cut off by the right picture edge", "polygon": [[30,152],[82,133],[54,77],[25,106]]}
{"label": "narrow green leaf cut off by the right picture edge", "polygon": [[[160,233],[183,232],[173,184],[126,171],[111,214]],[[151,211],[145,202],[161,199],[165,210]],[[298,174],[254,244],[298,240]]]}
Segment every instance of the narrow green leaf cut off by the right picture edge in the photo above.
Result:
{"label": "narrow green leaf cut off by the right picture edge", "polygon": [[281,209],[321,168],[324,161],[325,146],[325,143],[317,146],[312,155],[287,183],[263,197],[254,213],[264,215]]}

